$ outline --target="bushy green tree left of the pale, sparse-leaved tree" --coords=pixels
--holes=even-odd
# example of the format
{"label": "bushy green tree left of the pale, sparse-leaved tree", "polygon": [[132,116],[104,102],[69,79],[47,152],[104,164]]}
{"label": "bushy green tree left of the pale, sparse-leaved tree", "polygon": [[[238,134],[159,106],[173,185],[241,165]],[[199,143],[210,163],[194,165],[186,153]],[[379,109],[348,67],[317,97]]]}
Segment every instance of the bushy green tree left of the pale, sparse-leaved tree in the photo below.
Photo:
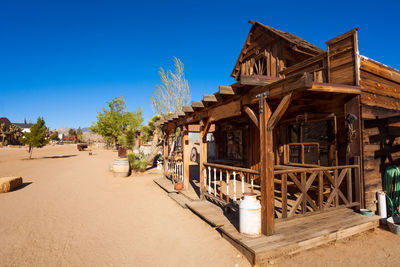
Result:
{"label": "bushy green tree left of the pale, sparse-leaved tree", "polygon": [[97,112],[97,122],[92,123],[90,127],[92,132],[100,134],[114,143],[118,142],[119,136],[125,134],[128,126],[136,132],[143,122],[141,108],[134,112],[128,112],[122,97],[114,98],[107,104],[108,109],[103,108],[102,112]]}

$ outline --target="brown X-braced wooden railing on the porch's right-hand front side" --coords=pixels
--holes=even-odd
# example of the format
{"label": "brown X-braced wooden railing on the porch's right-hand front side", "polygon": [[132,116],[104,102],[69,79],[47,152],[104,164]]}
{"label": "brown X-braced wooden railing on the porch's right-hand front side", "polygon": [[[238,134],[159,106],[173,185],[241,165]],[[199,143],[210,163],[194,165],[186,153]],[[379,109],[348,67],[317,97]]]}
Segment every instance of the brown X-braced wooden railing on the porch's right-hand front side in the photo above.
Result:
{"label": "brown X-braced wooden railing on the porch's right-hand front side", "polygon": [[281,218],[360,205],[359,165],[290,167],[275,170],[274,176],[275,196],[282,202]]}

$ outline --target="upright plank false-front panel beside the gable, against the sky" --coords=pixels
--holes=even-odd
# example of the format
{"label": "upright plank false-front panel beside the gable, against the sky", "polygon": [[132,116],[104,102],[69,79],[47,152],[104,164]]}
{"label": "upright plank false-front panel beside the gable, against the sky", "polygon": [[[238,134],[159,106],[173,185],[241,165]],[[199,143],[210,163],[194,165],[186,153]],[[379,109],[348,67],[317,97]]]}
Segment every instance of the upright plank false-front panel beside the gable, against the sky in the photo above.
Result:
{"label": "upright plank false-front panel beside the gable, against the sky", "polygon": [[327,41],[326,44],[329,82],[358,85],[357,29]]}

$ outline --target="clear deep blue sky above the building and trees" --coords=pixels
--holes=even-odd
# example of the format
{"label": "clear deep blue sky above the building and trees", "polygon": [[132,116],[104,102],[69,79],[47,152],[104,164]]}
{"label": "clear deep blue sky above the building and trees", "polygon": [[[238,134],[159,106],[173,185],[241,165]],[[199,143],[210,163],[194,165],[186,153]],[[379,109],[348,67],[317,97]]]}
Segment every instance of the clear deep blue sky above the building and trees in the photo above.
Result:
{"label": "clear deep blue sky above the building and trees", "polygon": [[2,1],[0,117],[85,127],[122,95],[153,115],[158,69],[185,64],[192,100],[230,77],[248,20],[325,41],[359,27],[360,53],[400,69],[398,1]]}

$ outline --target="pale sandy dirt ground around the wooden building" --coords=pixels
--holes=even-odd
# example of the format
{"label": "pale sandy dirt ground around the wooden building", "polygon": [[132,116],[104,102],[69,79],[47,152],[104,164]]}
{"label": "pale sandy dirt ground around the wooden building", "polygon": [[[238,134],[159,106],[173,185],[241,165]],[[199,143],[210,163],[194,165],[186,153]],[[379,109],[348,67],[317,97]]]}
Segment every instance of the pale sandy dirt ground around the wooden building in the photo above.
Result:
{"label": "pale sandy dirt ground around the wooden building", "polygon": [[[0,148],[0,266],[250,266],[217,231],[181,208],[153,179],[108,171],[115,152],[47,146],[23,160]],[[274,266],[400,266],[400,237],[384,229],[270,262]]]}

